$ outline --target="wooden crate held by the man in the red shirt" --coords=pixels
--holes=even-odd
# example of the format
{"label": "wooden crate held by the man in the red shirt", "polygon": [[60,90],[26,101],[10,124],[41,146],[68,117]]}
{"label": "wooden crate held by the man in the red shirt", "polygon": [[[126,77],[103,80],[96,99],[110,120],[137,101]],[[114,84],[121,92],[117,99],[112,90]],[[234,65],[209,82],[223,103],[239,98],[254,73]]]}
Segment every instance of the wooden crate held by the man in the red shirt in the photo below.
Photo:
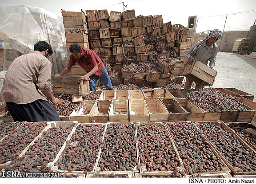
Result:
{"label": "wooden crate held by the man in the red shirt", "polygon": [[52,77],[52,92],[65,94],[88,94],[90,92],[90,81],[84,77]]}

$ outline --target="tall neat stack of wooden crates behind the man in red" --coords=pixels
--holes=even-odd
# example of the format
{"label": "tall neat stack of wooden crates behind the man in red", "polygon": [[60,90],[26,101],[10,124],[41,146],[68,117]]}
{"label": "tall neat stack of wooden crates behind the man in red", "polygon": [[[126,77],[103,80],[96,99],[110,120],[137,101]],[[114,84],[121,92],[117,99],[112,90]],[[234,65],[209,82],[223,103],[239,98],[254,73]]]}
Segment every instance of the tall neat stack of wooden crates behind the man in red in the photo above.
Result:
{"label": "tall neat stack of wooden crates behind the man in red", "polygon": [[[62,10],[61,13],[66,34],[66,46],[70,57],[69,46],[72,43],[77,43],[82,48],[89,48],[86,16],[83,10],[81,12],[66,12]],[[71,68],[70,73],[72,76],[86,74],[78,64]]]}

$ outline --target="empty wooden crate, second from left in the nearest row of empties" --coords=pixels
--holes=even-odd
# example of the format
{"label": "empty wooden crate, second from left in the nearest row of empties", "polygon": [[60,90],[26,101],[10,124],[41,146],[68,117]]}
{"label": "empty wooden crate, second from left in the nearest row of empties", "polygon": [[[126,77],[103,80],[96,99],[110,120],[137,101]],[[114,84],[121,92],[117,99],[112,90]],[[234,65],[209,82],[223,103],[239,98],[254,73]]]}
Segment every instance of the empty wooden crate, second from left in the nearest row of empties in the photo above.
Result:
{"label": "empty wooden crate, second from left in the nearest row of empties", "polygon": [[90,123],[107,123],[111,101],[96,101],[89,114]]}

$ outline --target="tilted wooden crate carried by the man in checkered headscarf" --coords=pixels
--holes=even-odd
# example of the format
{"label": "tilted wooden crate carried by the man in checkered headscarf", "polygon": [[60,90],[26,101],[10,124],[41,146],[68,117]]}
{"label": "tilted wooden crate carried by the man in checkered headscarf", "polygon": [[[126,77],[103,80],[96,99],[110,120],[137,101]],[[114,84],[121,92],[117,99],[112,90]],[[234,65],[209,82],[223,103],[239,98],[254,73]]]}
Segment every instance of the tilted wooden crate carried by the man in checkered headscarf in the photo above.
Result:
{"label": "tilted wooden crate carried by the man in checkered headscarf", "polygon": [[188,76],[190,78],[194,76],[205,82],[205,86],[212,86],[212,84],[215,81],[217,72],[212,68],[208,67],[207,65],[205,65],[204,63],[201,63],[200,61],[193,59],[193,63],[187,63],[184,66],[182,75],[184,75],[185,77]]}

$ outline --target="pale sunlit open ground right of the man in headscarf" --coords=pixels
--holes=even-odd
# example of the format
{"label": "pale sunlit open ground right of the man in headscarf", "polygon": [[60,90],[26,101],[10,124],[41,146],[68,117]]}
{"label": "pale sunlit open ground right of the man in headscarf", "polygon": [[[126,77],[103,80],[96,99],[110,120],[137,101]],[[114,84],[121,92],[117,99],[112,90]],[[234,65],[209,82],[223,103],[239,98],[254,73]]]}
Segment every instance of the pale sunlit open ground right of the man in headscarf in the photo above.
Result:
{"label": "pale sunlit open ground right of the man in headscarf", "polygon": [[256,59],[232,52],[218,52],[214,70],[218,72],[211,87],[234,87],[254,95],[256,102]]}

